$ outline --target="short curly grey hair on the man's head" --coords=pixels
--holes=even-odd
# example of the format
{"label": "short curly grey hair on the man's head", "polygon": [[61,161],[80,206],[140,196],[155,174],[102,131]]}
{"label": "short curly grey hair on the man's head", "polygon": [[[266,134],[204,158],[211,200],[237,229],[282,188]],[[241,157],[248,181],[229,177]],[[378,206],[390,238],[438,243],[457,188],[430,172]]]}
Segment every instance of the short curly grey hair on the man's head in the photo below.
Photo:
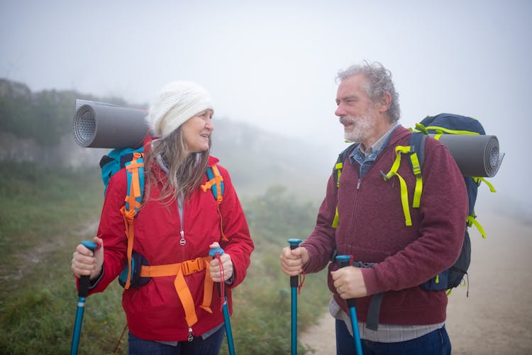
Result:
{"label": "short curly grey hair on the man's head", "polygon": [[394,81],[392,81],[392,72],[379,62],[364,61],[363,64],[354,64],[347,69],[340,70],[336,80],[341,82],[357,74],[367,77],[365,91],[373,102],[377,102],[385,92],[389,92],[392,97],[388,109],[389,118],[391,123],[396,123],[401,118],[401,108],[399,108],[399,94],[395,91]]}

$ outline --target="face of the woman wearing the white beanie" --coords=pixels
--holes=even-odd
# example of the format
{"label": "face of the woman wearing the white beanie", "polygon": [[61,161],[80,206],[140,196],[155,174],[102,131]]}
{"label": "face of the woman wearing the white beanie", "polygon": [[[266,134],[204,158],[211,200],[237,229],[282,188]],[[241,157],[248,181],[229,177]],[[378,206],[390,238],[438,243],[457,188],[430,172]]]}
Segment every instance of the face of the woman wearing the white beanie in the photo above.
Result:
{"label": "face of the woman wearing the white beanie", "polygon": [[214,130],[212,110],[204,110],[189,118],[182,125],[184,144],[188,153],[199,153],[209,150],[209,139]]}

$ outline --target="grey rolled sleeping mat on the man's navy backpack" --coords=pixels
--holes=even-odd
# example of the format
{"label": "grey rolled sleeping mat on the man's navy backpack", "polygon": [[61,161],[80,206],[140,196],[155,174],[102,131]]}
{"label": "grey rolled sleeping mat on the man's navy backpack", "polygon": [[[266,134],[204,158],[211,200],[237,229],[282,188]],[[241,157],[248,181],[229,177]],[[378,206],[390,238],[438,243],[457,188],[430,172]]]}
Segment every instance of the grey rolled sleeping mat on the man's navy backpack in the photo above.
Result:
{"label": "grey rolled sleeping mat on the man's navy backpack", "polygon": [[447,147],[462,175],[493,177],[501,167],[504,153],[499,152],[499,140],[494,135],[440,135],[438,140]]}

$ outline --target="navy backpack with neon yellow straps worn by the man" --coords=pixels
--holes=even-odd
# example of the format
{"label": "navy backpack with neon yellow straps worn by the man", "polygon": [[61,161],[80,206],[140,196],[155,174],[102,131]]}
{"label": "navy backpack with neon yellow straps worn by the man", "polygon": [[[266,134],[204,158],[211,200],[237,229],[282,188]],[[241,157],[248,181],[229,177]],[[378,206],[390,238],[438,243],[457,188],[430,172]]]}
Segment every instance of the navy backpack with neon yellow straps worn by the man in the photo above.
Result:
{"label": "navy backpack with neon yellow straps worn by the man", "polygon": [[[411,129],[412,130],[412,129]],[[421,171],[423,169],[424,162],[424,145],[425,140],[428,135],[433,135],[433,137],[438,140],[441,135],[444,134],[453,134],[453,135],[485,135],[484,128],[482,124],[475,120],[475,118],[466,117],[463,115],[455,115],[450,113],[441,113],[435,116],[427,116],[421,123],[416,123],[416,129],[412,130],[413,133],[409,140],[409,146],[398,146],[396,149],[400,153],[407,154],[409,156],[409,164],[412,169],[412,173],[416,176],[416,186],[414,187],[414,199],[412,201],[412,208],[419,208],[421,201],[421,193],[423,192],[423,177]],[[355,145],[350,145],[347,149],[341,152],[338,155],[338,160],[336,161],[335,167],[333,169],[333,176],[336,181],[336,186],[340,184],[340,176],[343,168],[343,162],[346,157],[353,150]],[[397,169],[399,168],[401,154],[397,154],[397,159],[392,165],[392,169],[388,174],[383,174],[385,181],[392,178],[392,176],[398,176]],[[399,179],[402,179],[398,176]],[[458,260],[453,266],[449,269],[441,272],[440,274],[434,276],[430,280],[422,283],[421,288],[428,291],[441,291],[447,290],[449,294],[453,288],[458,287],[465,276],[467,276],[467,269],[470,266],[471,261],[471,242],[469,237],[469,232],[467,227],[475,225],[477,230],[483,238],[486,237],[482,225],[477,221],[477,215],[475,215],[475,202],[477,200],[477,190],[482,181],[484,184],[487,184],[491,192],[496,192],[492,184],[490,184],[482,176],[464,176],[465,186],[467,188],[467,196],[469,201],[469,211],[466,220],[466,230],[464,237],[464,244],[462,245],[462,251]],[[408,196],[406,193],[406,185],[400,184],[401,186],[401,205],[404,211],[405,224],[411,225],[410,218],[410,203],[408,201]],[[336,215],[332,222],[332,227],[338,226],[338,207],[336,208]],[[467,290],[467,295],[469,290]]]}

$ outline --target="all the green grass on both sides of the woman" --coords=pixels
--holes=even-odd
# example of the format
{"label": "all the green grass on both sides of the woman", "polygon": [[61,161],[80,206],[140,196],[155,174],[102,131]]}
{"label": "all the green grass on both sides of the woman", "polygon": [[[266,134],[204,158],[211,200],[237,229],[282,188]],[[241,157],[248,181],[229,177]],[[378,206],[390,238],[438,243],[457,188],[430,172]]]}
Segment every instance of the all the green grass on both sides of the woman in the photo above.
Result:
{"label": "all the green grass on both sides of the woman", "polygon": [[[101,210],[99,171],[4,162],[0,176],[0,354],[67,354],[77,308],[70,259],[75,245],[94,233],[82,231]],[[256,248],[248,276],[233,291],[235,349],[287,354],[291,296],[279,253],[287,239],[308,235],[316,208],[297,203],[280,186],[243,206]],[[113,353],[126,325],[121,291],[114,282],[87,298],[79,354]],[[325,312],[328,298],[325,275],[306,276],[299,295],[300,331]],[[118,347],[118,354],[126,353],[127,335]],[[228,354],[225,341],[221,354]]]}

